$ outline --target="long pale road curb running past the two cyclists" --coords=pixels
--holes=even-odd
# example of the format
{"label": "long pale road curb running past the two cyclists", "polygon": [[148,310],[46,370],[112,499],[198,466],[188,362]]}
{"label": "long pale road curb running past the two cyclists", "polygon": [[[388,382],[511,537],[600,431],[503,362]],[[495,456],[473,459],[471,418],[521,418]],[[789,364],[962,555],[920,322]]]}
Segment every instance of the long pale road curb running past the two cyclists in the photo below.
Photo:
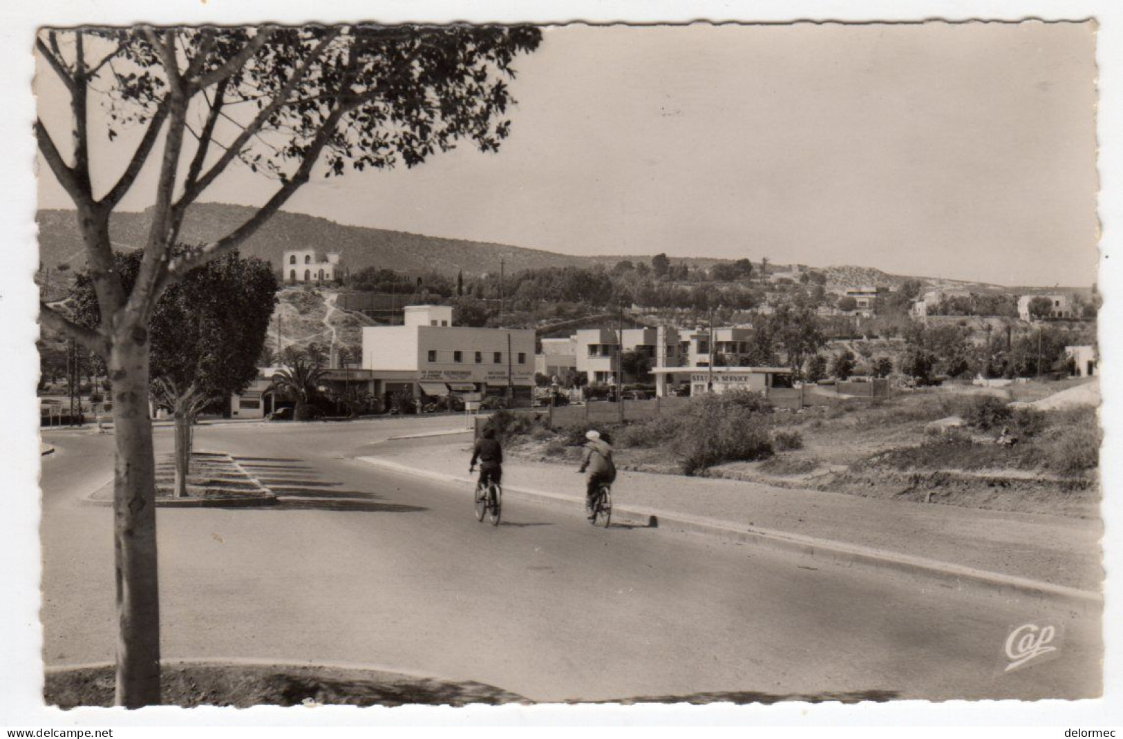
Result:
{"label": "long pale road curb running past the two cyclists", "polygon": [[[381,466],[395,472],[438,480],[441,482],[456,482],[465,485],[473,483],[471,477],[421,469],[409,465],[391,462],[381,457],[356,457],[360,462],[373,466]],[[467,487],[465,490],[468,490]],[[526,495],[541,502],[554,504],[565,504],[567,508],[576,510],[582,501],[577,498],[559,495],[546,491],[533,490],[515,485],[504,485],[505,494],[515,493]],[[725,540],[740,544],[750,544],[761,548],[777,549],[783,551],[795,551],[816,559],[832,562],[846,567],[855,564],[889,569],[894,572],[924,575],[932,577],[953,589],[965,586],[980,586],[988,591],[1004,595],[1017,595],[1030,597],[1044,597],[1050,600],[1061,600],[1077,608],[1103,608],[1103,596],[1099,593],[1084,591],[1065,585],[1054,585],[1026,577],[1017,577],[1003,573],[995,573],[951,563],[926,559],[923,557],[912,557],[896,551],[885,549],[874,549],[858,545],[834,541],[831,539],[819,539],[796,533],[786,533],[772,529],[739,528],[737,526],[714,519],[694,518],[656,509],[631,508],[613,505],[613,520],[624,519],[628,521],[656,523],[659,528],[688,531],[693,533],[704,533],[715,536]]]}

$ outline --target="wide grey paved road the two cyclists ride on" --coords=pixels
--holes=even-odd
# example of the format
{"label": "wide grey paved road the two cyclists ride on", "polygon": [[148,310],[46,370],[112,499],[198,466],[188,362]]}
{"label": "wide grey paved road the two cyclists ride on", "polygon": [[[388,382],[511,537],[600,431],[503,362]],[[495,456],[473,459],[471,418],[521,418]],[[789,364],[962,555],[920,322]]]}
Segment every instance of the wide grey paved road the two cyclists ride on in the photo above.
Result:
{"label": "wide grey paved road the two cyclists ride on", "polygon": [[[165,657],[369,664],[539,701],[1099,692],[1097,617],[704,536],[593,529],[578,511],[522,501],[492,528],[456,485],[351,458],[449,422],[201,428],[200,448],[257,457],[263,473],[323,500],[161,509]],[[77,500],[109,480],[111,440],[51,443],[46,662],[109,660],[110,512]],[[161,430],[157,449],[170,444]],[[1042,618],[1063,623],[1056,658],[1003,674],[1011,627]]]}

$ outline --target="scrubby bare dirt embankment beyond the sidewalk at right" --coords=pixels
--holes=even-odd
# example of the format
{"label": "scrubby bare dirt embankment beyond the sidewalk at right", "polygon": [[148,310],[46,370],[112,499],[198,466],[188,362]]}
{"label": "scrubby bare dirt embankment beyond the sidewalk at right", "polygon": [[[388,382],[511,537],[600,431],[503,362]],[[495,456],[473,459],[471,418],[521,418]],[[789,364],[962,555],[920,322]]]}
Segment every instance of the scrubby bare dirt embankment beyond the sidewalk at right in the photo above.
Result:
{"label": "scrubby bare dirt embankment beyond the sidewalk at right", "polygon": [[[877,403],[852,401],[798,413],[777,411],[772,419],[774,434],[795,435],[797,448],[777,450],[761,460],[714,465],[703,474],[864,498],[1098,517],[1099,434],[1093,405],[1098,396],[1094,389],[1028,383],[999,392],[1001,398],[995,396],[997,391],[976,390],[983,391],[952,387]],[[1007,418],[1001,408],[1014,398],[1024,401],[1012,403]],[[998,418],[977,410],[989,408],[988,403],[999,408]],[[1035,408],[1015,410],[1026,403]],[[959,413],[987,428],[961,420],[940,422]],[[1013,427],[1014,444],[997,443],[1004,426]],[[628,446],[633,435],[617,431],[623,441],[615,446],[620,467],[681,474],[665,445]],[[576,464],[578,443],[536,430],[517,438],[510,453],[528,460]]]}

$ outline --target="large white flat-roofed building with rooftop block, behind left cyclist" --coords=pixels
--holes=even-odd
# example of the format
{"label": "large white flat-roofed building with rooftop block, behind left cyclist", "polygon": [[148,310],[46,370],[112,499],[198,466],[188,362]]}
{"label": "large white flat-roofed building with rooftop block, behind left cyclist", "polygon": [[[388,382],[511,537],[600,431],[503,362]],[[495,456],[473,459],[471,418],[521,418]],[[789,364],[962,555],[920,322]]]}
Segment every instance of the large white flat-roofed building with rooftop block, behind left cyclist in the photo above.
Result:
{"label": "large white flat-roofed building with rooftop block, behind left cyclist", "polygon": [[404,326],[363,329],[363,370],[377,394],[528,399],[535,384],[532,329],[453,326],[450,305],[407,305]]}

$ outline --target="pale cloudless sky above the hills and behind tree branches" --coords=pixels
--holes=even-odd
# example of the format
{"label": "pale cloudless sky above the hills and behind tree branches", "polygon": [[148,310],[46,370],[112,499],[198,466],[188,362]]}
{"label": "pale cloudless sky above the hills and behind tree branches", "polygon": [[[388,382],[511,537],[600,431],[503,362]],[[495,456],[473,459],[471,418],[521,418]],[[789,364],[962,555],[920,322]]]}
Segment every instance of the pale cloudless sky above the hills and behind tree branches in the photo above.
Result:
{"label": "pale cloudless sky above the hills and behind tree branches", "polygon": [[[575,25],[515,67],[497,154],[313,177],[285,209],[567,254],[1096,279],[1092,24]],[[37,92],[65,121],[49,72]],[[69,207],[40,172],[40,207]],[[153,174],[122,208],[150,204]],[[238,167],[204,199],[271,186]]]}

